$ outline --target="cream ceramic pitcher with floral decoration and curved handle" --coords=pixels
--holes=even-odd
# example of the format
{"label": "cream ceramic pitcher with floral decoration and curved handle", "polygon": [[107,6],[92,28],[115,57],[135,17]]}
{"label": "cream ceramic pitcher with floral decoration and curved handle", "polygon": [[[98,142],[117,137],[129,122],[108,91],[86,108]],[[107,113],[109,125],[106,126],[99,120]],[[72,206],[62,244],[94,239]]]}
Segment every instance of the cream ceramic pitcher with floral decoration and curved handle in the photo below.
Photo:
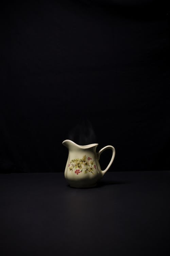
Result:
{"label": "cream ceramic pitcher with floral decoration and curved handle", "polygon": [[[115,148],[105,146],[97,152],[98,144],[85,146],[78,145],[71,140],[63,141],[63,145],[68,148],[68,159],[64,176],[71,187],[87,188],[96,186],[97,182],[103,177],[111,167],[115,157]],[[99,159],[106,149],[112,150],[112,158],[105,170],[101,170]]]}

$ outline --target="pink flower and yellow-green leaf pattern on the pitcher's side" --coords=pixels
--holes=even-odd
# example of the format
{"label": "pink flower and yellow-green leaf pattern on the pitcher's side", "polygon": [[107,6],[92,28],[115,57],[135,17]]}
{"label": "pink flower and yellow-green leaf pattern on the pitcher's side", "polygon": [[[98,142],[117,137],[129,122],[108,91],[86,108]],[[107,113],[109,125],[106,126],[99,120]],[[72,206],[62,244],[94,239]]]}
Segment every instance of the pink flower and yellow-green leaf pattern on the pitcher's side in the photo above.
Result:
{"label": "pink flower and yellow-green leaf pattern on the pitcher's side", "polygon": [[68,165],[68,170],[71,172],[74,171],[74,173],[77,175],[81,172],[84,172],[85,174],[87,172],[94,174],[95,169],[95,160],[92,160],[91,157],[87,158],[86,155],[84,155],[81,159],[72,159]]}

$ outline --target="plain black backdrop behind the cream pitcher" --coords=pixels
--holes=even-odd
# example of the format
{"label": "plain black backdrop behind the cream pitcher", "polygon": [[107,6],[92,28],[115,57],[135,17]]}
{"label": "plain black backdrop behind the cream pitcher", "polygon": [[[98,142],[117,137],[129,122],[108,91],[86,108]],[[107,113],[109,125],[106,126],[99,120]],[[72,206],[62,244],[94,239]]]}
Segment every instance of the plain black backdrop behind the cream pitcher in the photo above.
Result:
{"label": "plain black backdrop behind the cream pitcher", "polygon": [[170,169],[166,2],[8,2],[1,25],[1,172],[64,171],[68,138]]}

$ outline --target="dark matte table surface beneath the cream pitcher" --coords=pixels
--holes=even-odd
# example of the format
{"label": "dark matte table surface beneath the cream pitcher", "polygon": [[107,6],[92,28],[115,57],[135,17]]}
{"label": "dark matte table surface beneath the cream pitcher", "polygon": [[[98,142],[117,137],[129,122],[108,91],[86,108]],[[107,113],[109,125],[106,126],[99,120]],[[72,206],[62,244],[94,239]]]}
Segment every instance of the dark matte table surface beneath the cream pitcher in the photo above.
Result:
{"label": "dark matte table surface beneath the cream pitcher", "polygon": [[170,171],[0,174],[0,255],[170,255]]}

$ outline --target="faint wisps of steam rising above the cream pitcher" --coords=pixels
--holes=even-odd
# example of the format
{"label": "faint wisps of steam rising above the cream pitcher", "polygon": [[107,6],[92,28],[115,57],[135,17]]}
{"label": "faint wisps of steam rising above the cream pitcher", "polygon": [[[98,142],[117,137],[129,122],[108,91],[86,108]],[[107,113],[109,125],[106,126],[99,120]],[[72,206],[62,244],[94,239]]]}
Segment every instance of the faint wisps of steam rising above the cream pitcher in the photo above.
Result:
{"label": "faint wisps of steam rising above the cream pitcher", "polygon": [[70,130],[69,140],[79,144],[87,145],[96,143],[96,134],[88,119],[80,119],[79,122]]}

